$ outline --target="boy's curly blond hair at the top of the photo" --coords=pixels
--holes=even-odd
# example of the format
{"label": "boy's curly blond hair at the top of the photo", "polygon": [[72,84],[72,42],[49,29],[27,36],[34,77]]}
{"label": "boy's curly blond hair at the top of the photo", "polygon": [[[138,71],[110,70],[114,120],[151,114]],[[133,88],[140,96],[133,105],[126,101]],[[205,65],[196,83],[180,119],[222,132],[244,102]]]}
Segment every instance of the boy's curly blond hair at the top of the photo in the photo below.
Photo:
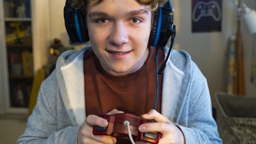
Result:
{"label": "boy's curly blond hair at the top of the photo", "polygon": [[[103,0],[72,0],[72,7],[73,8],[83,8],[86,10],[86,6],[88,3],[100,3]],[[118,0],[120,1],[120,0]],[[150,5],[152,11],[156,10],[159,6],[162,6],[168,0],[134,0],[140,4]]]}

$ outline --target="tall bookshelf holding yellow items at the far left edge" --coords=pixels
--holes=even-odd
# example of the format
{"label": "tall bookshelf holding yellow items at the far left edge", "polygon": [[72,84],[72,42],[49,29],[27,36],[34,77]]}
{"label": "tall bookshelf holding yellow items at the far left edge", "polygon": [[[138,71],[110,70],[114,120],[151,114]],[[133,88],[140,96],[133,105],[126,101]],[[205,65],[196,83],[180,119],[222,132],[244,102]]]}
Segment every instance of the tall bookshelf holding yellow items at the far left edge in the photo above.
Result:
{"label": "tall bookshelf holding yellow items at the far left edge", "polygon": [[3,100],[7,112],[26,113],[33,83],[33,20],[30,0],[1,0],[5,54]]}

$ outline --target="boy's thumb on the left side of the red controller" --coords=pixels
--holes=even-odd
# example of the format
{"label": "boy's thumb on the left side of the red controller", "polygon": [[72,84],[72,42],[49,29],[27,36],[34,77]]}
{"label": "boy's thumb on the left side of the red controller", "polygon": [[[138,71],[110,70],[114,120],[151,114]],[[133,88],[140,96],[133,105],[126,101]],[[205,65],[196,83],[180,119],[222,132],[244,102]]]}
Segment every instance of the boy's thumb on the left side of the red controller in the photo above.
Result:
{"label": "boy's thumb on the left side of the red controller", "polygon": [[108,120],[101,118],[97,115],[88,115],[85,120],[86,124],[88,125],[98,125],[100,127],[107,127]]}

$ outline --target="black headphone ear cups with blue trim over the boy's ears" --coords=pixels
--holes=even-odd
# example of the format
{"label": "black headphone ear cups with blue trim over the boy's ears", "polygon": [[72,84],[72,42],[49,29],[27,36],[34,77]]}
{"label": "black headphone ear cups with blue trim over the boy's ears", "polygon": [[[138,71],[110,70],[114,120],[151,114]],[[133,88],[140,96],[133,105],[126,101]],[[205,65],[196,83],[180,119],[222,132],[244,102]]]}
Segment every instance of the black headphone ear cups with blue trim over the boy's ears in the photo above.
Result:
{"label": "black headphone ear cups with blue trim over the boy's ears", "polygon": [[[90,40],[85,22],[84,12],[72,8],[71,0],[66,0],[64,7],[65,27],[70,41],[73,44],[83,44]],[[153,17],[152,29],[148,40],[148,45],[153,47],[164,47],[170,37],[175,38],[175,25],[173,25],[172,3],[168,0],[164,6],[160,6]],[[172,42],[172,40],[171,40]]]}

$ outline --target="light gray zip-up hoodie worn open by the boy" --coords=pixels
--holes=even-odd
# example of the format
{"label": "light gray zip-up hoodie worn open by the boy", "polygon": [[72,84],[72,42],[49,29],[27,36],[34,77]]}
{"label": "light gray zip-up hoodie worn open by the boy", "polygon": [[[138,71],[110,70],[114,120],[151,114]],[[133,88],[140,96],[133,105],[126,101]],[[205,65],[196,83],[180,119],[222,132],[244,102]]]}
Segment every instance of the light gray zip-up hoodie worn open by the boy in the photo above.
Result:
{"label": "light gray zip-up hoodie worn open by the boy", "polygon": [[[88,49],[67,51],[58,58],[56,69],[40,87],[19,144],[77,143],[77,132],[86,118],[83,56]],[[222,143],[212,118],[207,80],[187,52],[172,51],[164,70],[161,109],[184,133],[186,144]]]}

